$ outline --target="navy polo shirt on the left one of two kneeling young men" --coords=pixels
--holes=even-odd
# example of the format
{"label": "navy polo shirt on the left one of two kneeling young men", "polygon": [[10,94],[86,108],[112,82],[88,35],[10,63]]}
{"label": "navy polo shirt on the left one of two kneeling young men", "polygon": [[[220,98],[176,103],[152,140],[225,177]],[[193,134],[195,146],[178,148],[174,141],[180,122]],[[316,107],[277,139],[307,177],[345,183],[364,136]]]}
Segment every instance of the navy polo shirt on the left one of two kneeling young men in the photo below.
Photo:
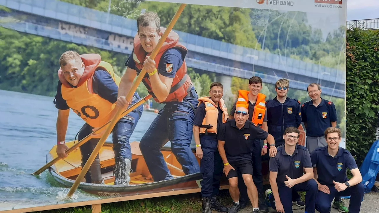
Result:
{"label": "navy polo shirt on the left one of two kneeling young men", "polygon": [[278,153],[275,157],[270,158],[269,170],[278,172],[276,183],[278,187],[285,186],[288,180],[285,175],[291,179],[299,178],[303,175],[303,168],[312,168],[312,161],[308,149],[305,146],[296,144],[292,156],[288,155],[284,149],[285,144],[277,148]]}

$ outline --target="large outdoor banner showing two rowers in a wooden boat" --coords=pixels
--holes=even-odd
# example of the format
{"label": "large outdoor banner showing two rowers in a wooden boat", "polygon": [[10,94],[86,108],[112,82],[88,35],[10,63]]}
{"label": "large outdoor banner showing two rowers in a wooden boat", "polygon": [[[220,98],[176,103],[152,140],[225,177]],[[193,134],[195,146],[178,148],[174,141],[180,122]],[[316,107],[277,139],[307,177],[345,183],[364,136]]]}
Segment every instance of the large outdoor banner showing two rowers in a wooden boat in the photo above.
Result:
{"label": "large outdoor banner showing two rowers in a wooden boat", "polygon": [[[155,64],[146,63],[181,3],[187,5]],[[299,143],[306,145],[304,121],[327,121],[341,129],[345,147],[346,4],[0,0],[0,211],[199,192],[194,116],[198,98],[210,95],[213,82],[223,85],[229,113],[238,90],[249,91],[252,77],[263,81],[258,89],[266,102],[285,94],[278,87],[287,87],[282,91],[303,108],[321,96],[319,107],[330,111],[302,118]],[[142,34],[139,27],[145,27]],[[116,122],[77,190],[65,199],[117,111],[119,96],[128,95],[147,67],[150,74],[132,91],[132,109]],[[278,80],[284,85],[276,88]],[[290,107],[283,113],[302,116]],[[224,175],[221,185],[227,187]]]}

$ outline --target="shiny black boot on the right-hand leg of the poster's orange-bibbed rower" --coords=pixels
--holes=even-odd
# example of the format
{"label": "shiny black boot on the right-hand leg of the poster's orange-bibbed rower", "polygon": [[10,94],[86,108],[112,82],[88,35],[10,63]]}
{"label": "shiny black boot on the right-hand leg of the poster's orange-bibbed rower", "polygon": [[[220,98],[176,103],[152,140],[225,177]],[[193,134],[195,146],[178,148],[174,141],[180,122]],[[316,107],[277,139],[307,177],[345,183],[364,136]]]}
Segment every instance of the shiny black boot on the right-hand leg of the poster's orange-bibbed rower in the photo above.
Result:
{"label": "shiny black boot on the right-hand leg of the poster's orange-bibbed rower", "polygon": [[129,185],[131,164],[132,161],[128,158],[117,157],[114,159],[114,185]]}

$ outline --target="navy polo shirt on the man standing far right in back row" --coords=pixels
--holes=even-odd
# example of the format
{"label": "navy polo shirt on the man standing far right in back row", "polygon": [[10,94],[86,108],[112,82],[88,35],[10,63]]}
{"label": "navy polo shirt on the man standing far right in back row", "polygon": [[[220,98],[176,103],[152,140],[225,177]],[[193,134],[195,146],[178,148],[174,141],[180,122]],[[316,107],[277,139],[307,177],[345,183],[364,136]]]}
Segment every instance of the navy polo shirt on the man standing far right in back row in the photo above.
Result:
{"label": "navy polo shirt on the man standing far right in back row", "polygon": [[334,103],[322,99],[315,107],[312,100],[305,102],[301,108],[301,121],[307,123],[307,136],[323,136],[326,128],[332,127],[331,122],[337,121]]}

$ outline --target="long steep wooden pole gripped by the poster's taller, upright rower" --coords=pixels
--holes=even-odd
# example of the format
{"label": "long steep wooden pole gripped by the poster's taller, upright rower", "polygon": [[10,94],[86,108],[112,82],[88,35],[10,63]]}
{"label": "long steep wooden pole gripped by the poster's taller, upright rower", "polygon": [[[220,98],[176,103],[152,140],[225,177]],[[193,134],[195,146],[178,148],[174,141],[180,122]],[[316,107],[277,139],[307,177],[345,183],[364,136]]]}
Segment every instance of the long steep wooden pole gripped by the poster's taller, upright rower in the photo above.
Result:
{"label": "long steep wooden pole gripped by the poster's taller, upright rower", "polygon": [[[159,50],[161,49],[164,41],[166,41],[166,38],[167,38],[168,34],[170,33],[170,31],[174,27],[176,21],[179,19],[180,14],[182,14],[182,11],[185,8],[185,6],[186,6],[186,4],[181,4],[180,7],[179,7],[179,9],[176,11],[174,17],[171,19],[171,22],[168,24],[166,30],[164,31],[161,39],[159,40],[159,42],[157,44],[157,47],[155,47],[155,49],[153,50],[153,52],[150,55],[150,58],[152,60],[154,60],[155,56],[157,56],[157,54],[158,54]],[[130,90],[129,90],[127,96],[126,96],[126,100],[130,100],[132,98],[134,92],[136,91],[139,83],[144,78],[145,74],[146,74],[146,69],[145,69],[145,67],[143,67],[142,70],[141,70],[141,72],[139,73],[137,79],[133,83],[132,88],[130,88]],[[97,143],[95,149],[92,151],[91,155],[89,156],[86,164],[83,166],[83,168],[81,168],[80,174],[75,179],[75,182],[71,186],[69,193],[67,193],[67,198],[70,198],[74,194],[74,192],[76,191],[76,189],[78,188],[78,186],[79,186],[79,184],[81,182],[81,179],[83,179],[84,175],[87,173],[87,171],[88,171],[89,167],[91,166],[92,162],[95,160],[97,154],[100,152],[101,147],[105,143],[105,139],[111,133],[111,130],[113,129],[114,125],[116,125],[116,122],[119,120],[120,114],[121,114],[121,108],[119,108],[119,110],[117,110],[117,112],[114,115],[112,121],[110,122],[110,124],[106,128],[104,135],[100,138],[100,140]]]}

